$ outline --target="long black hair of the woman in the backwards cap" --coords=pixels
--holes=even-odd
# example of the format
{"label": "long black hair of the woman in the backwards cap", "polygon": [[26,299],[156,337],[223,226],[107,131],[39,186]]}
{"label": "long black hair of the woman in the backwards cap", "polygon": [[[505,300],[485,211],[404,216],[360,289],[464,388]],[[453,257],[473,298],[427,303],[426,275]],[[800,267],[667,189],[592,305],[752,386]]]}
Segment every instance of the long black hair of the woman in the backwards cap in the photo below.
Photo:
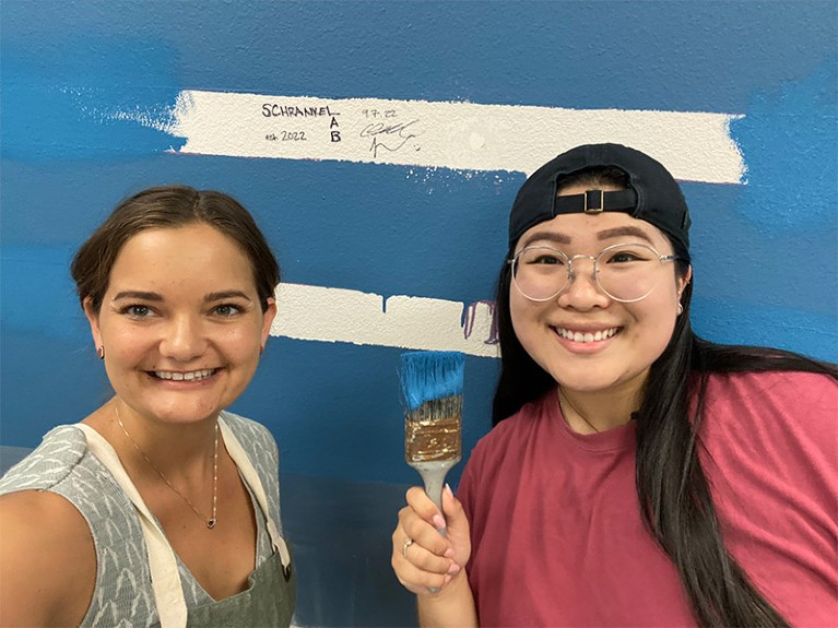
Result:
{"label": "long black hair of the woman in the backwards cap", "polygon": [[[625,186],[609,171],[571,175],[562,186]],[[510,250],[510,256],[514,251]],[[684,276],[687,262],[676,271]],[[500,377],[495,391],[493,425],[555,389],[556,381],[523,348],[509,308],[511,273],[504,263],[497,284]],[[672,337],[649,370],[636,413],[635,484],[644,520],[654,540],[677,567],[693,614],[700,626],[788,626],[788,621],[751,583],[724,547],[707,477],[698,458],[697,433],[705,392],[713,372],[806,371],[838,379],[835,365],[792,352],[719,345],[699,339],[689,324],[693,283],[684,288]],[[691,401],[696,400],[691,416]]]}

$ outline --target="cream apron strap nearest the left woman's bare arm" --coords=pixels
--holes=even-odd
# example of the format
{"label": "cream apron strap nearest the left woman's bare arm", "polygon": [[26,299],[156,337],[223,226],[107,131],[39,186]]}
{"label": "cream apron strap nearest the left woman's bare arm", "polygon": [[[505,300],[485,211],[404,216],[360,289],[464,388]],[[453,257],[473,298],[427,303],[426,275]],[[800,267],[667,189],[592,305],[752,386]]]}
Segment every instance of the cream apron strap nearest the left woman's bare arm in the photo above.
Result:
{"label": "cream apron strap nearest the left woman's bare arm", "polygon": [[172,549],[165,534],[157,526],[154,516],[145,506],[110,443],[88,425],[76,423],[75,427],[87,437],[90,450],[114,475],[120,488],[140,513],[143,537],[149,549],[149,568],[161,627],[185,628],[187,620],[186,600],[180,584],[180,572],[177,568],[175,550]]}

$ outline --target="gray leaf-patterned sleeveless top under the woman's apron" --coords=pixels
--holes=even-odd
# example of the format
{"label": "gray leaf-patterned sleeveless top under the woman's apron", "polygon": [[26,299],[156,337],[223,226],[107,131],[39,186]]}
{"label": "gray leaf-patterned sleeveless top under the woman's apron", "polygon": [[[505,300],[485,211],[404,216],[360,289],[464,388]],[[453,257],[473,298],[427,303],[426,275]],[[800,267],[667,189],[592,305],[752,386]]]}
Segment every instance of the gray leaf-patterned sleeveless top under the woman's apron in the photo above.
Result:
{"label": "gray leaf-patterned sleeveless top under the woman's apron", "polygon": [[[280,526],[276,442],[253,420],[228,412],[222,413],[222,418],[247,451],[264,486],[270,514]],[[50,430],[37,449],[0,478],[0,495],[33,489],[61,495],[91,528],[96,546],[96,586],[81,626],[158,625],[139,517],[107,469],[87,450],[81,429],[61,425]],[[261,565],[271,556],[271,540],[252,493],[250,500],[257,514],[257,562]],[[179,558],[178,569],[188,608],[213,602]]]}

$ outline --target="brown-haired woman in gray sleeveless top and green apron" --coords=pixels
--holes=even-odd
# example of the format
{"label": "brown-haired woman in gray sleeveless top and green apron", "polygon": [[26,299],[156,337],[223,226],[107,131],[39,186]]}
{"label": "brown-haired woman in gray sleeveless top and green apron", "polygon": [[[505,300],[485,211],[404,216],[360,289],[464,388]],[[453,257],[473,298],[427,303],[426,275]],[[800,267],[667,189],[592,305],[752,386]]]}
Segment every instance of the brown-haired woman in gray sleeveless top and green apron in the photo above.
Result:
{"label": "brown-haired woman in gray sleeveless top and green apron", "polygon": [[0,481],[0,624],[287,626],[276,443],[226,411],[276,313],[264,237],[226,194],[153,188],[71,270],[115,394]]}

